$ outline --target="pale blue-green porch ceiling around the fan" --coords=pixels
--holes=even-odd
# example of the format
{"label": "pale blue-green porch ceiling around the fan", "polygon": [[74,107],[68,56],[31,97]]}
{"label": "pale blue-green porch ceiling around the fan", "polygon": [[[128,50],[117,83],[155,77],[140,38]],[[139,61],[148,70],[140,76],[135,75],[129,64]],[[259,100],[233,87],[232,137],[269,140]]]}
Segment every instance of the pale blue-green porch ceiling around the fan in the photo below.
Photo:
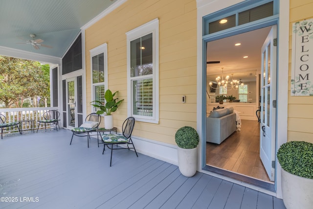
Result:
{"label": "pale blue-green porch ceiling around the fan", "polygon": [[[2,0],[0,47],[62,57],[80,28],[115,1],[119,0]],[[52,48],[18,44],[30,40],[30,34]]]}

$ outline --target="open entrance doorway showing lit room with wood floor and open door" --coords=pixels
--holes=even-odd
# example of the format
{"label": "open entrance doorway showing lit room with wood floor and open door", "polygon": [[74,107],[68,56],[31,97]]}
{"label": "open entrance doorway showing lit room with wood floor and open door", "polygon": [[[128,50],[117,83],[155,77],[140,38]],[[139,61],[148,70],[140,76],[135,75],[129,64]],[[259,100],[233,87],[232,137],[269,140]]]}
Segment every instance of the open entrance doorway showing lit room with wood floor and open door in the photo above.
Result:
{"label": "open entrance doorway showing lit room with wood floor and open door", "polygon": [[[276,117],[272,106],[276,97],[276,53],[272,50],[276,49],[263,46],[272,28],[268,26],[207,42],[206,60],[206,116],[213,108],[233,106],[239,113],[236,113],[236,120],[237,116],[241,119],[241,127],[236,127],[236,131],[220,144],[206,142],[205,169],[269,190],[274,190],[275,179],[271,165],[275,162]],[[276,30],[272,33],[277,34]],[[272,36],[272,42],[273,39]],[[227,75],[229,83],[225,92],[216,78],[220,76],[220,80],[226,81]],[[231,85],[233,79],[244,83],[246,92]],[[231,103],[225,99],[221,105],[215,102],[215,96],[219,94],[232,95],[241,101]],[[257,116],[261,116],[260,120]],[[268,154],[266,163],[264,157],[261,159],[264,151]]]}

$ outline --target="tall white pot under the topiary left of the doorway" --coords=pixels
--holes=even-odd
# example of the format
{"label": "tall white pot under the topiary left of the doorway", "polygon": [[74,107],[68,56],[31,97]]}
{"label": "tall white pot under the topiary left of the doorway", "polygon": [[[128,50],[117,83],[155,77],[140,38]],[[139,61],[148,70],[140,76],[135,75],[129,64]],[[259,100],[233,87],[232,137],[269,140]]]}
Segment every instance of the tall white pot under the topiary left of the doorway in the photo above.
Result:
{"label": "tall white pot under the topiary left of the doorway", "polygon": [[186,177],[192,177],[197,172],[197,147],[193,149],[183,149],[178,147],[179,171]]}

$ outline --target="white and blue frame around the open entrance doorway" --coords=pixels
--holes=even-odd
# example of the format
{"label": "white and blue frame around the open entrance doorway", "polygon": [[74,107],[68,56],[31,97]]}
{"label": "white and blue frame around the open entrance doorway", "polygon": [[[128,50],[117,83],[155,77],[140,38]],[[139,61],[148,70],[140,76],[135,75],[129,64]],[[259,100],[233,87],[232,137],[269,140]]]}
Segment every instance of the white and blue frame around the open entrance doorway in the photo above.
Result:
{"label": "white and blue frame around the open entrance doorway", "polygon": [[[224,14],[227,14],[226,8],[238,4],[244,0],[228,0],[225,2],[224,5],[219,4],[217,1],[209,1],[209,0],[197,0],[197,131],[200,135],[201,143],[199,145],[199,150],[201,152],[198,153],[198,170],[210,174],[212,176],[216,176],[221,179],[225,179],[230,182],[234,182],[239,185],[243,185],[249,188],[257,189],[263,191],[265,193],[274,195],[278,198],[282,198],[281,194],[281,173],[280,173],[280,165],[277,163],[277,158],[275,159],[276,169],[275,169],[275,191],[269,191],[267,189],[263,189],[258,186],[253,186],[250,184],[246,184],[235,179],[231,179],[225,177],[223,175],[219,175],[213,172],[209,172],[203,167],[205,166],[205,84],[206,78],[203,76],[203,69],[205,66],[206,54],[203,53],[206,50],[206,41],[203,41],[203,26],[202,20],[203,17],[215,13],[217,11],[222,11]],[[273,25],[277,24],[277,31],[278,31],[278,47],[277,47],[277,108],[276,108],[276,149],[283,143],[287,141],[287,119],[288,119],[288,103],[285,102],[288,100],[288,73],[286,73],[286,69],[289,68],[289,45],[283,44],[289,42],[289,0],[276,0],[276,5],[279,5],[278,11],[279,14],[272,16],[271,18],[267,19],[266,22],[258,22],[255,24],[257,27],[261,27],[261,25]],[[277,6],[278,7],[278,6]],[[279,16],[284,18],[279,19]],[[271,23],[269,23],[271,22]],[[252,28],[252,25],[249,26],[241,26],[239,27],[240,30],[244,31],[246,29]],[[237,31],[238,33],[238,26],[236,27],[237,30],[228,29],[228,36],[230,33],[234,33]],[[217,32],[216,35],[211,35],[210,38],[213,40],[215,37],[222,38],[222,36],[226,36],[225,32]],[[279,44],[282,43],[282,44]],[[203,131],[204,130],[204,131]],[[277,150],[276,150],[277,151]]]}

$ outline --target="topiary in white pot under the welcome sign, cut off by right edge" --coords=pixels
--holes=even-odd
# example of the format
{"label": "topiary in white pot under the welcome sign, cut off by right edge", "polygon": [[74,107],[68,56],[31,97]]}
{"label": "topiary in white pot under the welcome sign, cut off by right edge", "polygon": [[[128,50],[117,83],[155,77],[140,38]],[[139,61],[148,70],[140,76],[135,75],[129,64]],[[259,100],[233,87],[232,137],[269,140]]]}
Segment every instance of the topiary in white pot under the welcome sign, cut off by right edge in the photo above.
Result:
{"label": "topiary in white pot under the welcome sign, cut off by right edge", "polygon": [[313,143],[289,141],[277,152],[282,178],[282,195],[287,209],[313,206]]}

